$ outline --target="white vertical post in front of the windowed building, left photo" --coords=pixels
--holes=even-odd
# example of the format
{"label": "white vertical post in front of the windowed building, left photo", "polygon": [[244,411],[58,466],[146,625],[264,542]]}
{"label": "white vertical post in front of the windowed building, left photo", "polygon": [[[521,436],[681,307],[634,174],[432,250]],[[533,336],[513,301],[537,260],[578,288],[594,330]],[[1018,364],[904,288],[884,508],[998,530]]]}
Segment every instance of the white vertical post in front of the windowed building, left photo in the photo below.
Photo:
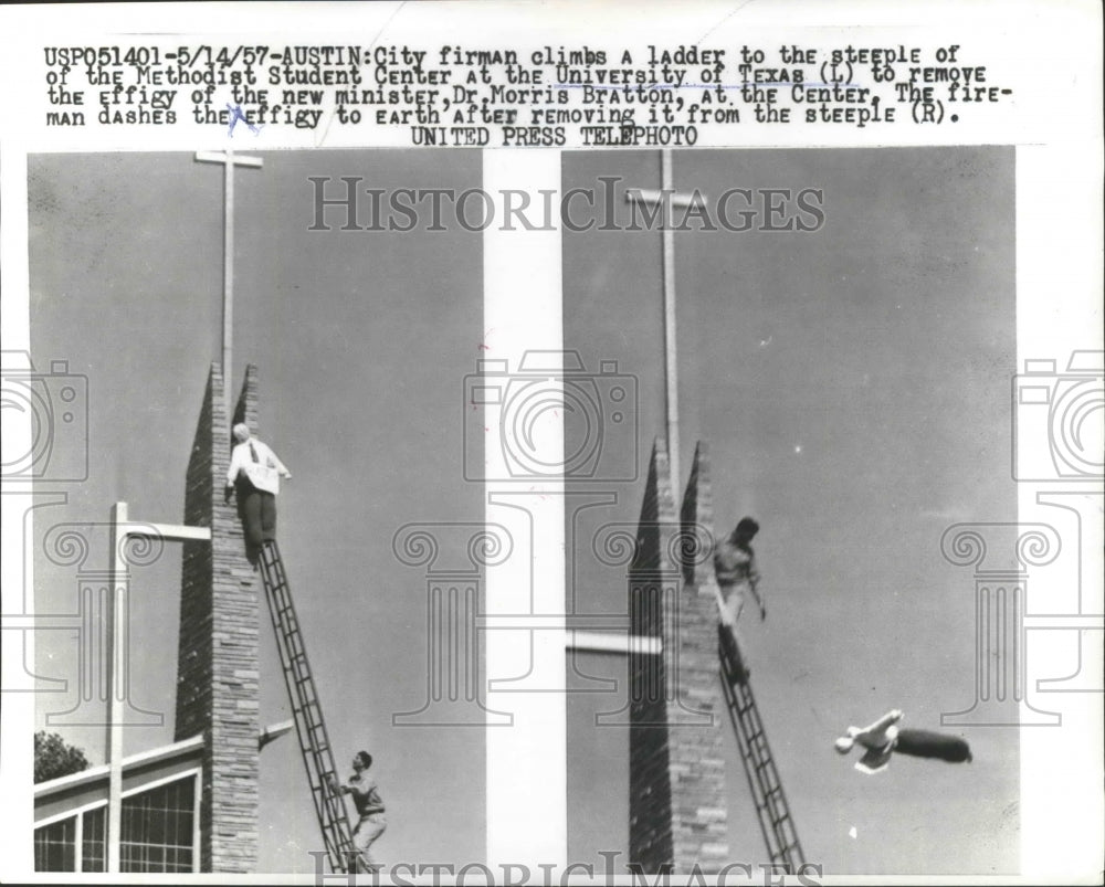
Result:
{"label": "white vertical post in front of the windowed building, left photo", "polygon": [[[123,651],[126,638],[123,636],[125,613],[127,608],[127,585],[129,576],[123,547],[126,542],[127,504],[117,501],[112,508],[112,560],[108,581],[107,620],[108,653],[107,666],[107,870],[119,872],[122,862],[120,832],[123,826],[123,696],[124,686]],[[77,848],[80,853],[80,847]]]}

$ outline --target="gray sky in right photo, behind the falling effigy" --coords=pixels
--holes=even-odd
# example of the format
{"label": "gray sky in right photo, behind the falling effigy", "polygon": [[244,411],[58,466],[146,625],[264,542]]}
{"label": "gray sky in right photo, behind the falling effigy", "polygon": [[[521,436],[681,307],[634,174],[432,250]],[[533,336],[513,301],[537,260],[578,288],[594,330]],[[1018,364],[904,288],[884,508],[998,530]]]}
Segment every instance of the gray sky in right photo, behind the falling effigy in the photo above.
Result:
{"label": "gray sky in right photo, behind the falling effigy", "polygon": [[[566,155],[564,184],[621,176],[656,188],[659,166],[656,151]],[[890,708],[939,729],[941,712],[975,698],[974,582],[939,542],[955,522],[1017,516],[1013,152],[684,151],[674,184],[715,202],[729,188],[824,194],[815,233],[675,237],[680,486],[705,439],[715,529],[760,521],[768,619],[746,611],[743,632],[807,859],[827,873],[1014,872],[1015,728],[965,730],[969,765],[898,757],[877,777],[832,749]],[[624,211],[620,191],[614,202]],[[564,243],[565,347],[592,370],[617,360],[640,391],[641,478],[604,485],[619,503],[581,511],[575,545],[579,609],[618,612],[624,572],[600,564],[590,540],[601,524],[636,519],[663,432],[661,235]],[[604,469],[632,476],[630,451],[604,452]],[[581,667],[624,679],[612,657]],[[571,700],[573,858],[628,844],[627,737],[589,727],[611,698]],[[762,838],[726,732],[730,854],[755,863]]]}

